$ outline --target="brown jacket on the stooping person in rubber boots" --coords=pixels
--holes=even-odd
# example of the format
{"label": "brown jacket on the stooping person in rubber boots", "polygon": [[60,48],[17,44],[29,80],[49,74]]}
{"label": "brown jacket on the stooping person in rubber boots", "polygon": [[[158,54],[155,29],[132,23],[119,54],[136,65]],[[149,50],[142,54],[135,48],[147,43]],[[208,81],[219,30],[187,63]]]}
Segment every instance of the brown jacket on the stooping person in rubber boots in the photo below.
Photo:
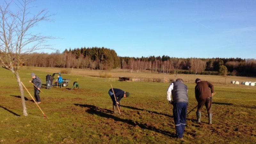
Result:
{"label": "brown jacket on the stooping person in rubber boots", "polygon": [[[211,89],[211,91],[209,90]],[[208,97],[212,97],[212,93],[214,92],[214,87],[208,81],[200,81],[196,83],[195,86],[195,95],[196,100],[202,100]]]}

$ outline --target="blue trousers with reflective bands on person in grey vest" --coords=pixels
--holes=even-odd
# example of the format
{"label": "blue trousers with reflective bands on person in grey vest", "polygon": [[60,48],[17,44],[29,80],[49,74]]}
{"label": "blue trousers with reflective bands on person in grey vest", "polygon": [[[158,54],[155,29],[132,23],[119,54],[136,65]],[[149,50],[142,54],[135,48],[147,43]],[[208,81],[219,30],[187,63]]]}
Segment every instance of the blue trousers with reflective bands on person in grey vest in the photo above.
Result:
{"label": "blue trousers with reflective bands on person in grey vest", "polygon": [[183,138],[183,133],[186,126],[188,103],[176,102],[173,104],[173,118],[175,124],[176,135],[178,138]]}

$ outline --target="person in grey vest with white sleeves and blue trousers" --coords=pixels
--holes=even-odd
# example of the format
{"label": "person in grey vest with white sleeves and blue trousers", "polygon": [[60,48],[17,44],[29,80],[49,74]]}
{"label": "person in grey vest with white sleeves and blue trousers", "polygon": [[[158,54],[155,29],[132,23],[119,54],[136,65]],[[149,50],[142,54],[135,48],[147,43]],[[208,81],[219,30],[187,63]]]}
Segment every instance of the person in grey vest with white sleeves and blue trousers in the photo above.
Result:
{"label": "person in grey vest with white sleeves and blue trousers", "polygon": [[176,135],[180,140],[184,140],[183,134],[186,126],[188,108],[188,87],[183,84],[182,79],[178,78],[169,85],[166,94],[167,100],[173,105],[172,113]]}

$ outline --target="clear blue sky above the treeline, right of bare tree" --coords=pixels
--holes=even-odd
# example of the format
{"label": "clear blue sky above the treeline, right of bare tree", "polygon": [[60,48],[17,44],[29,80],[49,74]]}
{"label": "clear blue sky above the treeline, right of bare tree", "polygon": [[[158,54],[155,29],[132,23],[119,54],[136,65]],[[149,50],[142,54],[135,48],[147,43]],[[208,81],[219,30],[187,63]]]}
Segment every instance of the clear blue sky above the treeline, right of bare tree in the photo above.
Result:
{"label": "clear blue sky above the treeline, right of bare tree", "polygon": [[[256,59],[256,0],[38,0],[52,47],[105,47],[118,56]],[[55,51],[48,51],[49,53]]]}

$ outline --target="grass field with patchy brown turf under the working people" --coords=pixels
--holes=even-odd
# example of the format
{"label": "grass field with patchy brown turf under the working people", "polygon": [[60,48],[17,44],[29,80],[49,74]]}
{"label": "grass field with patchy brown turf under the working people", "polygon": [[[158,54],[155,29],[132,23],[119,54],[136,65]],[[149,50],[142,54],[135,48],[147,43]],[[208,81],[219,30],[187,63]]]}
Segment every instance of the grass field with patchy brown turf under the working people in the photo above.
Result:
{"label": "grass field with patchy brown turf under the working people", "polygon": [[[45,76],[60,72],[58,68],[21,68],[20,80],[33,96],[30,73],[34,72],[46,84]],[[230,84],[230,81],[256,81],[252,77],[220,77],[178,75],[188,86],[188,111],[196,106],[194,80],[199,77],[215,86],[212,99],[213,124],[209,125],[205,108],[202,124],[195,123],[196,110],[187,117],[186,141],[178,141],[172,116],[172,106],[166,99],[169,83],[120,82],[118,77],[166,78],[173,75],[108,71],[112,77],[101,78],[96,70],[70,70],[62,74],[70,78],[67,87],[42,89],[39,104],[47,118],[26,92],[28,116],[23,116],[20,91],[15,76],[0,68],[0,143],[3,144],[168,144],[168,143],[229,143],[250,144],[256,141],[256,86]],[[70,90],[78,81],[79,90]],[[226,81],[226,83],[225,83]],[[108,90],[130,92],[121,100],[121,116],[112,114]]]}

